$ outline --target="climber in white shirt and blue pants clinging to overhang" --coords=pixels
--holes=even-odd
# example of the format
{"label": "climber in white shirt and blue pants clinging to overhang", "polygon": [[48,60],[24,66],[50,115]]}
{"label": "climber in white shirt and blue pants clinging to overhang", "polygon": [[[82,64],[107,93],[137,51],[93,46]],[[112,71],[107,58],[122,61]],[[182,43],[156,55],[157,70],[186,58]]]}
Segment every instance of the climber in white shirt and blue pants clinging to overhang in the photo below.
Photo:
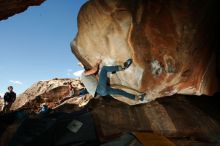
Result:
{"label": "climber in white shirt and blue pants clinging to overhang", "polygon": [[141,93],[140,95],[133,95],[121,89],[112,88],[107,84],[108,77],[107,73],[115,73],[118,71],[124,71],[132,64],[132,59],[128,59],[124,62],[123,65],[116,66],[103,66],[101,68],[100,74],[99,65],[102,60],[98,60],[96,65],[92,69],[85,69],[85,71],[81,74],[81,81],[85,85],[87,91],[93,96],[106,96],[106,95],[121,95],[136,101],[143,101],[145,93]]}

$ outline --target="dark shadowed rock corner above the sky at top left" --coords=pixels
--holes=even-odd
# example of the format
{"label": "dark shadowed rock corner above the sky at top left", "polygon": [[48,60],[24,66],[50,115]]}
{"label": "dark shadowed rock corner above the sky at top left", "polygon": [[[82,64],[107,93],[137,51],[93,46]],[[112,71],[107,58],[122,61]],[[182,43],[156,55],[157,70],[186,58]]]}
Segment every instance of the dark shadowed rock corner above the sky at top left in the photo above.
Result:
{"label": "dark shadowed rock corner above the sky at top left", "polygon": [[0,0],[0,20],[25,11],[29,6],[36,6],[45,0]]}

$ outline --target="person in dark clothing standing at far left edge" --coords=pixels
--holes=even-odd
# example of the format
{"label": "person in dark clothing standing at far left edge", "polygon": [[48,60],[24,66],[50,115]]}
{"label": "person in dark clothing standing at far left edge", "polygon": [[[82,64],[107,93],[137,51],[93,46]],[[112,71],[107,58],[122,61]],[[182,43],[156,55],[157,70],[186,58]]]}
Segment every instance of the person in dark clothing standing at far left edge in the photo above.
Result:
{"label": "person in dark clothing standing at far left edge", "polygon": [[9,86],[8,92],[6,92],[4,95],[3,112],[10,111],[10,108],[11,108],[12,104],[14,103],[15,99],[16,99],[16,93],[13,91],[13,87]]}

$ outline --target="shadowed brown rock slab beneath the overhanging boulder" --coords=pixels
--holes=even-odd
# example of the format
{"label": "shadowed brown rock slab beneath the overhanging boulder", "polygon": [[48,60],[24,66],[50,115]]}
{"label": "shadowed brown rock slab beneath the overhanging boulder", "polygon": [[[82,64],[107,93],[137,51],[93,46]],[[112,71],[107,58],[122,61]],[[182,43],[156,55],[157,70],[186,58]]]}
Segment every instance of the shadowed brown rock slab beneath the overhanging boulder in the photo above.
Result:
{"label": "shadowed brown rock slab beneath the overhanging boulder", "polygon": [[91,101],[91,112],[101,141],[127,131],[145,131],[163,135],[176,146],[219,146],[219,104],[217,94],[173,95],[138,106],[100,98]]}

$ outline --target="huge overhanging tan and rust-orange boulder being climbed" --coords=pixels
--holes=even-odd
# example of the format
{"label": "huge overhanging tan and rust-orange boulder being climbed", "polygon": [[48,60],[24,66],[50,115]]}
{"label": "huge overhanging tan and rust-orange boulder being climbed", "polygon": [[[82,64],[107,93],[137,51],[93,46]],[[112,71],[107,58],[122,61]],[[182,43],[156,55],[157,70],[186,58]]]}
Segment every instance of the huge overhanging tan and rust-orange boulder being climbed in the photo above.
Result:
{"label": "huge overhanging tan and rust-orange boulder being climbed", "polygon": [[111,84],[146,92],[148,100],[212,95],[218,90],[215,6],[205,0],[90,0],[79,12],[72,52],[87,68],[98,58],[102,65],[132,58],[127,70],[110,75]]}

